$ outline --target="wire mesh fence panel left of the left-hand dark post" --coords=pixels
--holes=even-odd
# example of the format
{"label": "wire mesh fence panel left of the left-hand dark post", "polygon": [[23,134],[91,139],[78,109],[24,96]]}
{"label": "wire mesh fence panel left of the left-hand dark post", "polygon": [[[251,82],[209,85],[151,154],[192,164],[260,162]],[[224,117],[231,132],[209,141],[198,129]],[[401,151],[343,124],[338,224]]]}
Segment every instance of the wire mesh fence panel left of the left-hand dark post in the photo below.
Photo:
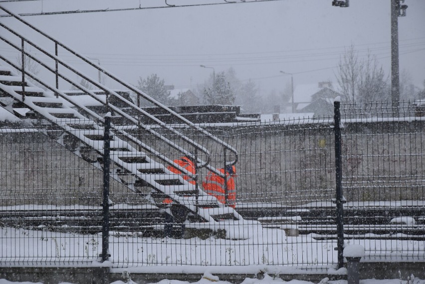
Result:
{"label": "wire mesh fence panel left of the left-hand dark post", "polygon": [[98,259],[102,172],[51,139],[69,135],[49,135],[21,123],[0,128],[2,265]]}

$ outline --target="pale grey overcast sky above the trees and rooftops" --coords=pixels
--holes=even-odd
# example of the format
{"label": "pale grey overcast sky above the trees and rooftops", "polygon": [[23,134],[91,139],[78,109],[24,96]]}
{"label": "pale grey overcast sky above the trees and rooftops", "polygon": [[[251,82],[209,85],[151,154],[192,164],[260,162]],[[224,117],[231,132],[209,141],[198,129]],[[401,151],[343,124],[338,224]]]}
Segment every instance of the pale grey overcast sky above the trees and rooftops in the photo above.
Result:
{"label": "pale grey overcast sky above the trees and rooftops", "polygon": [[[224,2],[168,0],[169,4]],[[247,0],[249,1],[249,0]],[[1,2],[1,1],[0,1]],[[176,88],[203,83],[233,67],[241,80],[253,79],[265,94],[294,84],[331,80],[344,47],[368,49],[390,72],[390,0],[276,0],[240,4],[170,7],[131,11],[26,16],[25,19],[78,52],[135,84],[152,73]],[[33,0],[2,2],[15,13],[163,6],[163,0]],[[423,88],[425,0],[406,0],[399,17],[400,70]],[[7,22],[5,20],[4,22]],[[1,51],[7,54],[6,48]],[[319,69],[319,70],[317,70]],[[316,71],[313,71],[316,70]],[[93,72],[94,73],[94,72]],[[92,74],[97,78],[97,74]]]}

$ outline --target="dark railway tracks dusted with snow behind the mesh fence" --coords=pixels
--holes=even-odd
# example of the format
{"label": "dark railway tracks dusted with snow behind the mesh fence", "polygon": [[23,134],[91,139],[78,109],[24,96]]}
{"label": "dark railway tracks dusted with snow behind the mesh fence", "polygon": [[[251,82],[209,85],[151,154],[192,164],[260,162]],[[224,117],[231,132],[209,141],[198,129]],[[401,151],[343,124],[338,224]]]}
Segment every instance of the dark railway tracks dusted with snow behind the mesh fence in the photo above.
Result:
{"label": "dark railway tracks dusted with snow behind the mesh fence", "polygon": [[[263,227],[296,230],[318,240],[336,239],[336,217],[333,207],[317,208],[249,208],[239,214],[258,220]],[[414,219],[414,223],[392,223],[394,218]],[[0,226],[31,230],[47,230],[77,234],[98,234],[102,231],[102,210],[46,209],[1,210]],[[400,219],[400,218],[399,218]],[[423,208],[344,209],[344,233],[350,239],[425,240]],[[153,206],[110,209],[111,234],[133,234],[140,237],[162,237],[165,215]],[[175,226],[180,230],[179,224]],[[176,232],[177,234],[178,232]]]}

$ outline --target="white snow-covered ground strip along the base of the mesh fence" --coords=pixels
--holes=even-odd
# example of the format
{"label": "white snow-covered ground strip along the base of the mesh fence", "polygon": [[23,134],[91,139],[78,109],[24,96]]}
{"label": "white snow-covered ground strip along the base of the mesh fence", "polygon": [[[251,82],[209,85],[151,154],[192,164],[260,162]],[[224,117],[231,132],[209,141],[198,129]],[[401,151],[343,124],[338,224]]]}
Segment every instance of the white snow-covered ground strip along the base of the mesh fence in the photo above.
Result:
{"label": "white snow-covered ground strip along the base of the mesh fence", "polygon": [[[237,226],[233,228],[239,230]],[[160,265],[162,271],[174,269],[182,273],[185,266],[234,267],[331,265],[337,262],[336,241],[318,241],[308,235],[285,236],[285,231],[249,225],[245,238],[205,240],[139,237],[137,233],[110,232],[110,267],[152,270]],[[0,264],[25,266],[56,266],[58,263],[96,266],[102,252],[102,236],[49,232],[40,227],[34,230],[0,228]],[[425,241],[350,240],[347,245],[362,245],[366,258],[415,261],[424,259]],[[164,267],[164,265],[166,267]],[[147,266],[150,266],[147,268]],[[176,270],[177,269],[177,270]],[[180,269],[180,271],[179,271]],[[142,272],[142,271],[138,271]]]}

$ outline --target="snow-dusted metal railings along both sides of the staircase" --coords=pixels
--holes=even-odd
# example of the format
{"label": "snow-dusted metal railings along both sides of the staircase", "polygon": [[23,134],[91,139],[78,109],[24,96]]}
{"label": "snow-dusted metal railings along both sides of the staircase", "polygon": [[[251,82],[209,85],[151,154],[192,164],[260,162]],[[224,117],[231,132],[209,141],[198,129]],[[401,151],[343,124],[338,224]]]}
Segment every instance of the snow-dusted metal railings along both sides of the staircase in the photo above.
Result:
{"label": "snow-dusted metal railings along both sides of the staircase", "polygon": [[[0,9],[3,10],[4,12],[6,12],[7,14],[9,14],[10,16],[14,17],[15,19],[19,20],[20,22],[22,22],[23,24],[25,24],[26,26],[30,27],[31,29],[33,29],[34,31],[36,31],[37,33],[43,35],[44,37],[46,37],[47,39],[49,39],[50,41],[52,41],[55,45],[55,55],[50,54],[49,52],[41,49],[40,47],[38,47],[37,45],[35,45],[34,43],[32,43],[30,40],[24,38],[23,36],[18,35],[16,32],[14,32],[11,28],[8,28],[7,26],[5,26],[4,24],[0,23],[0,25],[7,29],[8,31],[10,31],[11,33],[15,34],[16,36],[21,38],[22,41],[22,47],[21,48],[17,48],[18,50],[21,51],[22,53],[22,58],[25,55],[30,56],[33,60],[35,60],[29,53],[24,51],[23,48],[23,44],[24,42],[29,43],[31,46],[37,48],[38,50],[40,50],[41,52],[43,52],[44,54],[46,54],[47,56],[49,56],[50,58],[52,58],[55,61],[55,70],[51,70],[50,68],[47,68],[49,71],[54,72],[55,73],[55,77],[56,77],[56,89],[58,88],[58,78],[61,77],[62,79],[64,79],[65,81],[68,81],[69,83],[71,83],[72,85],[74,85],[75,87],[77,87],[78,89],[80,89],[81,91],[87,93],[88,95],[92,96],[94,99],[98,100],[97,97],[91,93],[88,92],[87,89],[85,88],[81,88],[81,86],[79,86],[79,84],[75,84],[73,82],[70,82],[70,80],[67,80],[64,78],[64,76],[61,76],[61,74],[58,72],[58,64],[60,63],[62,66],[64,66],[65,68],[67,68],[68,70],[70,70],[71,72],[77,74],[78,76],[84,78],[85,80],[87,80],[89,83],[93,84],[94,86],[100,88],[101,90],[105,91],[105,93],[108,95],[113,95],[116,98],[118,98],[119,100],[121,100],[122,102],[124,102],[125,104],[127,104],[128,106],[132,107],[134,110],[138,111],[140,114],[149,117],[151,120],[157,122],[161,127],[168,129],[172,132],[174,132],[176,135],[179,135],[182,139],[184,139],[186,142],[190,143],[191,145],[193,145],[197,150],[200,150],[201,152],[206,153],[206,155],[209,157],[210,153],[208,152],[207,149],[205,149],[203,146],[199,145],[196,142],[193,142],[192,140],[190,140],[189,138],[187,138],[186,136],[182,135],[181,133],[179,133],[178,131],[176,131],[175,129],[173,129],[171,126],[167,126],[165,123],[161,122],[160,120],[158,120],[157,118],[155,118],[154,116],[150,115],[149,113],[147,113],[146,111],[142,110],[139,106],[136,106],[135,104],[133,104],[132,102],[126,100],[125,98],[121,97],[119,94],[117,94],[116,92],[108,89],[107,87],[103,86],[102,84],[92,80],[89,76],[84,75],[82,72],[79,72],[78,70],[76,70],[75,68],[71,67],[70,65],[68,65],[66,62],[64,62],[63,60],[61,60],[59,57],[57,57],[57,50],[58,50],[58,46],[64,48],[66,51],[70,52],[71,54],[73,54],[74,56],[76,56],[77,58],[81,59],[82,61],[84,61],[85,63],[87,63],[88,65],[94,67],[95,69],[97,69],[99,72],[102,72],[104,75],[107,75],[110,79],[112,79],[113,81],[115,81],[116,83],[126,87],[127,89],[133,91],[137,97],[143,97],[145,100],[147,100],[148,102],[156,105],[157,107],[160,107],[164,110],[166,110],[170,115],[176,117],[178,120],[182,121],[182,123],[186,124],[187,126],[189,126],[191,129],[196,130],[196,131],[200,131],[203,135],[205,135],[206,137],[212,139],[214,142],[220,144],[223,147],[223,152],[226,154],[227,151],[231,152],[234,155],[234,159],[231,161],[227,161],[227,157],[224,156],[224,161],[223,161],[223,165],[224,167],[226,165],[234,165],[237,162],[238,156],[237,156],[237,151],[231,147],[230,145],[228,145],[227,143],[221,141],[220,139],[218,139],[217,137],[215,137],[214,135],[210,134],[208,131],[202,129],[201,127],[196,126],[195,124],[193,124],[192,122],[190,122],[189,120],[185,119],[184,117],[180,116],[179,114],[177,114],[176,112],[174,112],[173,110],[171,110],[170,108],[168,108],[167,106],[161,104],[160,102],[154,100],[153,98],[149,97],[147,94],[145,94],[144,92],[142,92],[141,90],[138,90],[137,88],[131,86],[130,84],[124,82],[123,80],[119,79],[118,77],[114,76],[113,74],[109,73],[108,71],[106,71],[103,67],[101,67],[98,64],[92,63],[90,61],[89,58],[78,54],[77,52],[75,52],[74,50],[70,49],[69,47],[67,47],[66,45],[64,45],[63,43],[59,42],[58,40],[54,39],[53,37],[47,35],[46,33],[42,32],[41,30],[37,29],[36,27],[34,27],[33,25],[31,25],[30,23],[28,23],[27,21],[25,21],[24,19],[22,19],[20,16],[8,11],[7,9],[5,9],[4,7],[2,7],[0,5]],[[3,37],[1,37],[1,39],[4,41],[5,39]],[[13,45],[14,48],[16,48],[16,46]],[[39,64],[41,64],[39,61],[37,61]],[[44,66],[45,67],[45,66]],[[23,75],[22,75],[23,76]],[[23,89],[24,91],[24,89]],[[98,100],[100,101],[100,100]],[[102,101],[100,101],[101,103],[103,103]],[[109,107],[111,107],[110,104],[108,104],[108,101],[106,101],[106,105],[108,105]],[[123,114],[123,112],[121,112],[118,108],[113,108],[112,109],[118,113],[120,113],[120,115],[126,117],[127,119],[130,119],[131,121],[134,122],[134,119],[131,118],[128,115]],[[141,126],[141,124],[138,124],[139,126]],[[153,130],[151,128],[145,128],[148,131],[150,131],[153,134]],[[158,136],[158,134],[155,134],[157,137],[159,137],[160,139],[164,140],[164,137]],[[179,149],[181,150],[181,149]],[[184,152],[185,153],[185,152]],[[200,161],[198,159],[198,156],[196,156],[197,161]],[[173,163],[173,166],[176,166]],[[178,166],[177,166],[178,167]],[[225,174],[221,173],[219,170],[215,169],[209,161],[202,163],[197,163],[197,167],[206,167],[208,168],[210,171],[212,171],[213,173],[226,178]],[[178,167],[180,170],[182,170],[182,168]],[[183,172],[186,172],[186,170],[183,169]],[[188,173],[189,175],[191,175],[191,173]]]}

